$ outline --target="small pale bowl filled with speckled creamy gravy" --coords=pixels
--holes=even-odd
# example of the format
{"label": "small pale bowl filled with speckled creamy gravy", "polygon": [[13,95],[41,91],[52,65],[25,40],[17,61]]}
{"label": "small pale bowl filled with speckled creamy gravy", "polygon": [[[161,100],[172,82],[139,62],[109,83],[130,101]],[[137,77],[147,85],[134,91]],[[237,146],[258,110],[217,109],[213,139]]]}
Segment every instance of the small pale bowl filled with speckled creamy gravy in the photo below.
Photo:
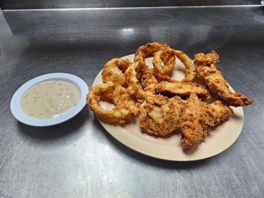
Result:
{"label": "small pale bowl filled with speckled creamy gravy", "polygon": [[10,109],[20,122],[38,127],[63,123],[77,115],[86,104],[87,84],[67,73],[33,78],[13,95]]}

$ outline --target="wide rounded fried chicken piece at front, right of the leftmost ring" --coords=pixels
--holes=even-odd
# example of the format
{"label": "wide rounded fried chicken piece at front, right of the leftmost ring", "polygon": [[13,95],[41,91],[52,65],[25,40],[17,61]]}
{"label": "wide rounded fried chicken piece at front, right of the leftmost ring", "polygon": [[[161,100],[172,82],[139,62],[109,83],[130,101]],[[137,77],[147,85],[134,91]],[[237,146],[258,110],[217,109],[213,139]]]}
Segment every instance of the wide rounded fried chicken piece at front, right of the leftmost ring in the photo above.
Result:
{"label": "wide rounded fried chicken piece at front, right of the leftmost ring", "polygon": [[178,128],[185,100],[180,97],[147,96],[140,106],[140,125],[150,134],[166,136]]}

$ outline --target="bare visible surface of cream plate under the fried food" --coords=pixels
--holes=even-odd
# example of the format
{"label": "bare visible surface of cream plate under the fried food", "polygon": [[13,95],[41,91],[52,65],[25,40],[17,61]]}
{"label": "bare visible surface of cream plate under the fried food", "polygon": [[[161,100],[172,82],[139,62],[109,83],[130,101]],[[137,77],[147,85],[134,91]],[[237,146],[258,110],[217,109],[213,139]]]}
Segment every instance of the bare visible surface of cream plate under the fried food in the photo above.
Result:
{"label": "bare visible surface of cream plate under the fried food", "polygon": [[[134,54],[124,56],[133,62]],[[152,65],[152,58],[146,58],[146,64]],[[185,75],[185,67],[177,59],[176,66],[172,72],[173,79],[182,80]],[[97,75],[93,86],[103,83],[102,71]],[[230,89],[234,91],[231,87]],[[101,102],[100,104],[105,109],[111,109],[112,104]],[[99,120],[106,131],[123,145],[138,151],[142,154],[170,161],[194,161],[205,159],[216,155],[225,149],[229,148],[238,138],[243,127],[243,108],[231,107],[234,115],[209,132],[207,138],[195,150],[183,151],[180,135],[175,133],[165,138],[155,138],[144,133],[140,127],[139,119],[131,118],[125,125],[111,125]]]}

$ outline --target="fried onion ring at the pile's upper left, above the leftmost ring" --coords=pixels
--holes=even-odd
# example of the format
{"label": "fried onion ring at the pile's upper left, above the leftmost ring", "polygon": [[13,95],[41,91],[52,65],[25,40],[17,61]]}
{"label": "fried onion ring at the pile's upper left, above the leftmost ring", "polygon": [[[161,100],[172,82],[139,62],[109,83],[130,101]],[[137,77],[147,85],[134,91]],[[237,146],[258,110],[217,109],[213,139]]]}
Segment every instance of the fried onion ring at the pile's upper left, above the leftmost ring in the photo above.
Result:
{"label": "fried onion ring at the pile's upper left, above the leftmost ring", "polygon": [[130,64],[130,60],[122,58],[113,58],[106,62],[105,68],[102,72],[104,83],[113,82],[122,87],[127,87],[124,72]]}

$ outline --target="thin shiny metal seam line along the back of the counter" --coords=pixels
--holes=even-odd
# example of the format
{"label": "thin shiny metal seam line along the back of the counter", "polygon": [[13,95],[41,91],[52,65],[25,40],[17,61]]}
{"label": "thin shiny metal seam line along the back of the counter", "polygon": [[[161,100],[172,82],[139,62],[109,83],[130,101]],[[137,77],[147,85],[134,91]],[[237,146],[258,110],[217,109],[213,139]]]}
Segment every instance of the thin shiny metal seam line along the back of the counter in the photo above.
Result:
{"label": "thin shiny metal seam line along the back of the counter", "polygon": [[158,9],[158,8],[218,8],[218,7],[260,7],[261,4],[253,5],[199,5],[199,6],[158,6],[158,7],[83,7],[83,8],[45,8],[45,9],[3,9],[2,11],[51,11],[51,10],[105,10],[105,9]]}

